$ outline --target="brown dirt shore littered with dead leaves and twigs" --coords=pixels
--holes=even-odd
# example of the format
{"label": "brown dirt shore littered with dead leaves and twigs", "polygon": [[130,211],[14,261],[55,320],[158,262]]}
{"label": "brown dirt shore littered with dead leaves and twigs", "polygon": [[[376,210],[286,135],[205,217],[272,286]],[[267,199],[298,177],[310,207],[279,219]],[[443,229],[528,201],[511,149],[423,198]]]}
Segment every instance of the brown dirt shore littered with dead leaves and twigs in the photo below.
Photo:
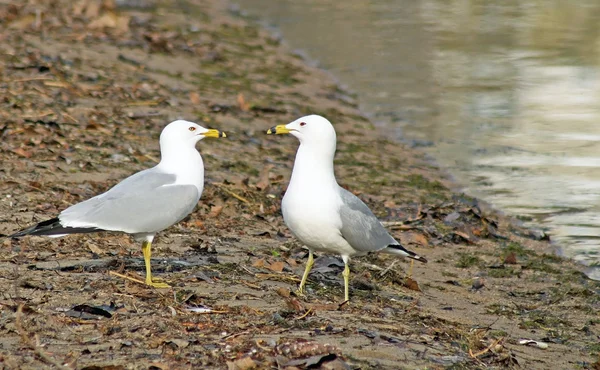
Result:
{"label": "brown dirt shore littered with dead leaves and twigs", "polygon": [[[158,235],[143,276],[126,235],[0,239],[3,369],[598,369],[599,285],[451,190],[355,98],[221,1],[0,2],[0,233],[159,159],[176,118],[224,130],[198,148],[197,210]],[[338,133],[340,184],[429,263],[307,252],[279,211],[308,113]],[[523,342],[523,340],[530,340]]]}

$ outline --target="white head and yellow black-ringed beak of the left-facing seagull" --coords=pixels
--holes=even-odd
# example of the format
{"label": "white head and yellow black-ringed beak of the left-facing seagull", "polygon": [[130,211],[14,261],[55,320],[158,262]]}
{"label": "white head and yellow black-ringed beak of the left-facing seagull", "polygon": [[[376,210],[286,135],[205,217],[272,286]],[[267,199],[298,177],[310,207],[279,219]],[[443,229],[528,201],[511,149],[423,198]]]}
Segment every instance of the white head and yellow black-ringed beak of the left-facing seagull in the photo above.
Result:
{"label": "white head and yellow black-ringed beak of the left-facing seagull", "polygon": [[287,125],[271,127],[267,134],[291,134],[307,145],[332,146],[335,148],[335,129],[325,117],[316,114],[300,117]]}

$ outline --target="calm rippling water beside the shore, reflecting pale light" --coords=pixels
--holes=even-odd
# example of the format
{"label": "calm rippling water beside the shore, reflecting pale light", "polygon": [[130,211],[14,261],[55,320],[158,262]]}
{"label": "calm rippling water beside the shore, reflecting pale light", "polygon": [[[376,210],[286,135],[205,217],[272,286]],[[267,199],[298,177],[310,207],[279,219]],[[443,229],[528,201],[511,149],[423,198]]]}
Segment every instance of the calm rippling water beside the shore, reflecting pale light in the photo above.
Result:
{"label": "calm rippling water beside the shore, reflecting pale light", "polygon": [[238,1],[465,192],[600,264],[600,2]]}

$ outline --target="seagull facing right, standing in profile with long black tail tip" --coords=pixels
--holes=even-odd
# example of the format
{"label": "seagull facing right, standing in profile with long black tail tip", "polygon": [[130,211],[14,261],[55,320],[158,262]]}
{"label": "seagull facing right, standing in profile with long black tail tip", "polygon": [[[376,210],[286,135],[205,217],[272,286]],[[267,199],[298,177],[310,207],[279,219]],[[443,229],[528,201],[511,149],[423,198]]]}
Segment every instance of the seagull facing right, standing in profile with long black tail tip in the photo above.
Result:
{"label": "seagull facing right, standing in profile with long black tail tip", "polygon": [[152,240],[158,232],[183,220],[198,204],[204,189],[204,163],[196,143],[205,137],[226,135],[189,121],[169,123],[160,134],[158,165],[133,174],[103,194],[70,206],[55,218],[8,237],[59,237],[100,231],[130,234],[142,242],[146,280],[115,275],[154,288],[169,288],[168,284],[152,280]]}

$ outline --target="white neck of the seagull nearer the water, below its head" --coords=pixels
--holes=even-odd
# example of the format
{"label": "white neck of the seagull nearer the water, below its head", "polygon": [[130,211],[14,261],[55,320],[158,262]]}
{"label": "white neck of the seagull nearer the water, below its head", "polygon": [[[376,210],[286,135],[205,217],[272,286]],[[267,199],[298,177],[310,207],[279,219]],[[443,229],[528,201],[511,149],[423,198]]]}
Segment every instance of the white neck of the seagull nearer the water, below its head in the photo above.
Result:
{"label": "white neck of the seagull nearer the water, below its head", "polygon": [[310,187],[328,184],[337,185],[333,171],[333,149],[323,149],[300,144],[294,161],[290,187]]}

